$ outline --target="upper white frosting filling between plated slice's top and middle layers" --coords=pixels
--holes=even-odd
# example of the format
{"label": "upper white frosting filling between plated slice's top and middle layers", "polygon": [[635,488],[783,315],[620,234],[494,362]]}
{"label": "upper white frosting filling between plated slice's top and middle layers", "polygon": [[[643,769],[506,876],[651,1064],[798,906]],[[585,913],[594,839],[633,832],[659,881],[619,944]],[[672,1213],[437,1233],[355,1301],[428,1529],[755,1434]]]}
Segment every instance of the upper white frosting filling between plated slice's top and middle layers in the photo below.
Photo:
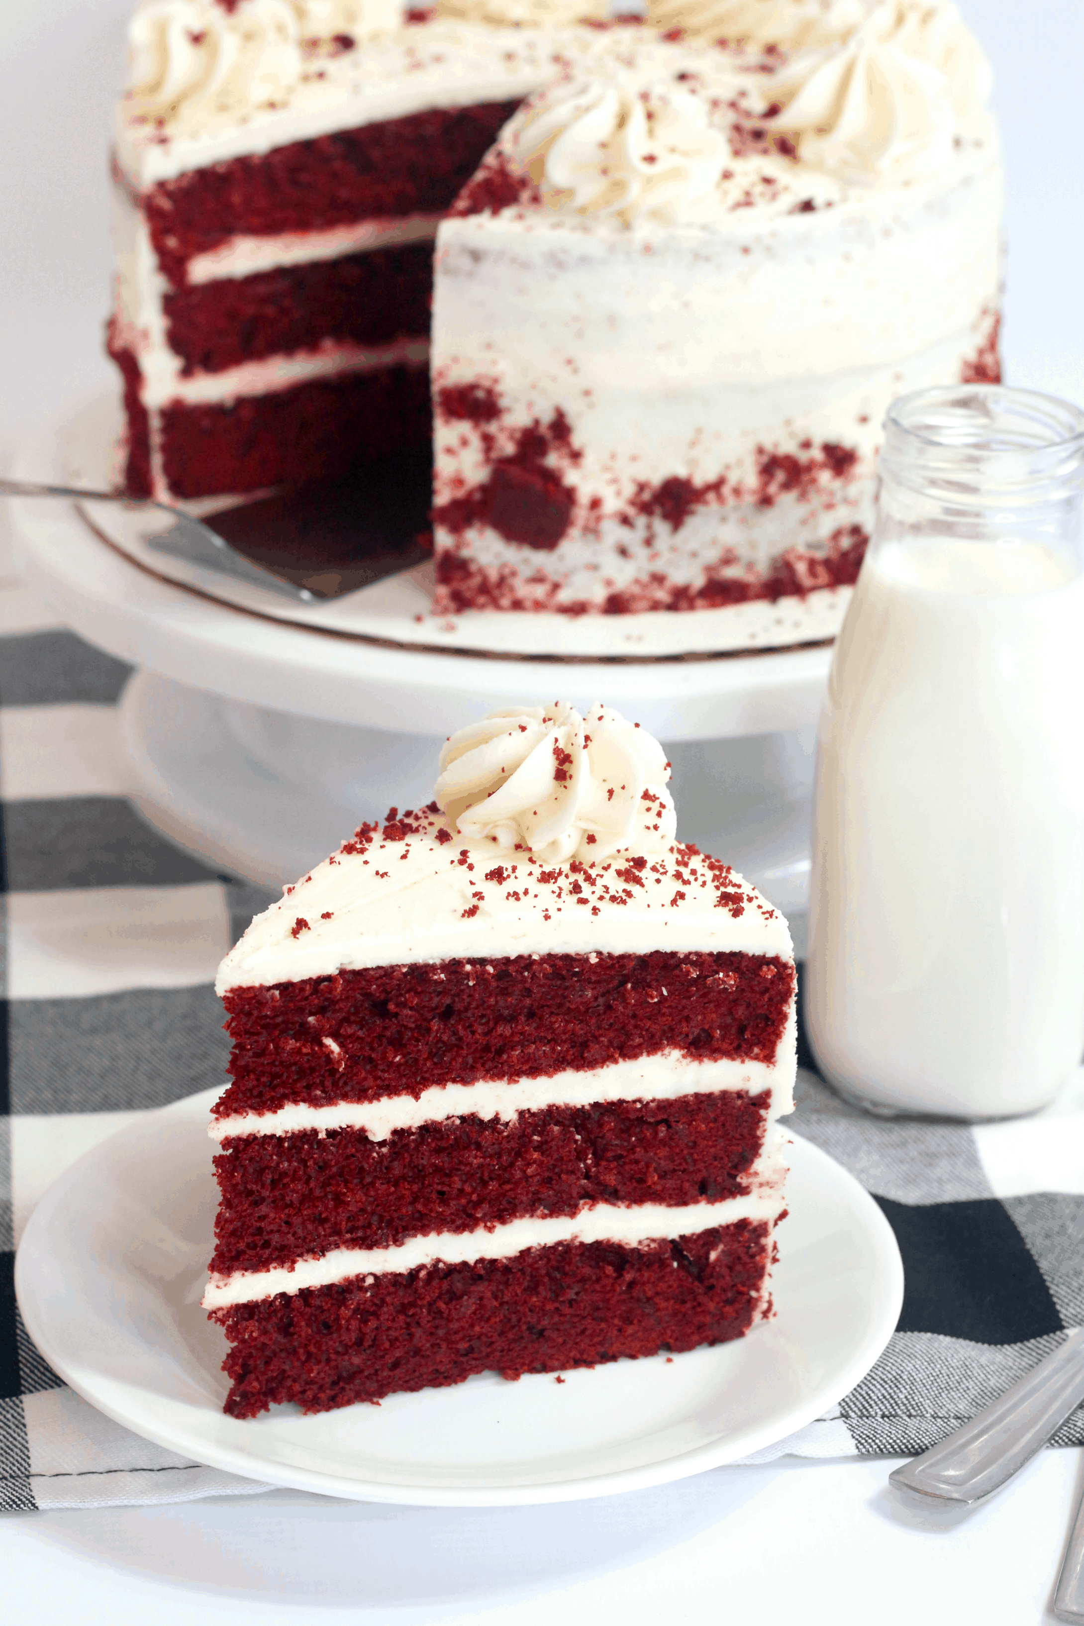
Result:
{"label": "upper white frosting filling between plated slice's top and middle layers", "polygon": [[211,1140],[236,1135],[293,1135],[301,1130],[361,1130],[369,1140],[387,1140],[397,1130],[414,1130],[423,1124],[442,1124],[455,1117],[502,1119],[510,1122],[520,1112],[546,1107],[587,1107],[611,1101],[679,1101],[683,1096],[717,1094],[722,1089],[746,1089],[751,1096],[772,1093],[770,1115],[791,1109],[795,1073],[793,1031],[780,1042],[782,1060],[764,1062],[694,1062],[681,1050],[660,1050],[635,1062],[613,1062],[609,1067],[566,1070],[548,1078],[479,1080],[476,1085],[434,1085],[414,1101],[413,1096],[384,1096],[380,1101],[341,1101],[330,1107],[288,1106],[276,1112],[239,1112],[229,1119],[211,1119]]}

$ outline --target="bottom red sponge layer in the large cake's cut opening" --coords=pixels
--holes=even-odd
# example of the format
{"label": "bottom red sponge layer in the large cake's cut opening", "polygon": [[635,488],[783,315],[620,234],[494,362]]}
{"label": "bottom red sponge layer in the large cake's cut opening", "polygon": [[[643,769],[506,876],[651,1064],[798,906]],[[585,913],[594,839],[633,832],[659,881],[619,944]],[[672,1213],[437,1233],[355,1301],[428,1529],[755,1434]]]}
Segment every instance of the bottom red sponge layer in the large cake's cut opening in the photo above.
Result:
{"label": "bottom red sponge layer in the large cake's cut opening", "polygon": [[179,498],[333,480],[429,442],[426,367],[379,367],[228,405],[161,411],[161,455]]}

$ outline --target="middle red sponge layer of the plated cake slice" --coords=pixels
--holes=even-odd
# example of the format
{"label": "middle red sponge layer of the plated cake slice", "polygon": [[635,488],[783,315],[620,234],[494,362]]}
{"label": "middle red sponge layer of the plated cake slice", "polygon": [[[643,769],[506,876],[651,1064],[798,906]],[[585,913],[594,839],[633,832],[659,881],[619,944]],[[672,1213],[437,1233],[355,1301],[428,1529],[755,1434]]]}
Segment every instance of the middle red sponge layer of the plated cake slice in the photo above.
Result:
{"label": "middle red sponge layer of the plated cake slice", "polygon": [[395,1130],[228,1140],[211,1272],[267,1270],[335,1247],[395,1247],[587,1203],[722,1202],[749,1190],[765,1089],[544,1107]]}

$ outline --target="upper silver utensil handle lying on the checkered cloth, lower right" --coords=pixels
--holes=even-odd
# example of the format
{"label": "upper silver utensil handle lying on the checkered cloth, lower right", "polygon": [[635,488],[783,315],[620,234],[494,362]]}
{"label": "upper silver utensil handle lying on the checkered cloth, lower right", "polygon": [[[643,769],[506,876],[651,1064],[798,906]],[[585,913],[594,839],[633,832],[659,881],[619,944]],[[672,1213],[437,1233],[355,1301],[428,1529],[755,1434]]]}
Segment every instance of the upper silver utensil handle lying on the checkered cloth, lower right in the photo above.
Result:
{"label": "upper silver utensil handle lying on the checkered cloth, lower right", "polygon": [[1084,1402],[1084,1328],[978,1416],[889,1475],[930,1501],[960,1506],[1001,1489]]}

